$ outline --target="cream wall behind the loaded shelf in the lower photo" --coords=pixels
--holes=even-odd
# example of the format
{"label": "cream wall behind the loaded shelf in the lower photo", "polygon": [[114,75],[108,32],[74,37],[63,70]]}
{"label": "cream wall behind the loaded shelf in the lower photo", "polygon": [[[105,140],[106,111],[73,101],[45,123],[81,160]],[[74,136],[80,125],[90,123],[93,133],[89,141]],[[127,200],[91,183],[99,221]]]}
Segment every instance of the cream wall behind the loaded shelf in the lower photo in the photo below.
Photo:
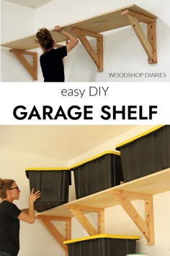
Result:
{"label": "cream wall behind the loaded shelf in the lower photo", "polygon": [[[86,158],[96,155],[97,153],[102,153],[105,150],[115,150],[115,145],[117,143],[123,142],[128,139],[128,137],[135,136],[140,132],[150,129],[152,126],[138,126],[135,127],[130,132],[126,132],[119,137],[113,138],[107,141],[103,145],[99,145],[97,148],[93,148],[86,152],[84,155],[79,155],[77,158],[73,159],[69,163],[66,161],[60,161],[56,158],[47,158],[41,155],[34,155],[31,153],[24,153],[15,150],[8,150],[7,148],[1,148],[0,146],[0,169],[2,178],[13,178],[17,181],[19,188],[22,190],[20,200],[15,201],[19,208],[27,208],[27,198],[29,196],[29,181],[25,176],[24,170],[28,167],[40,167],[40,166],[71,166],[73,164],[79,163]],[[42,145],[44,142],[42,141]],[[72,182],[70,188],[70,200],[75,199],[75,189]],[[105,210],[105,233],[107,234],[129,234],[129,235],[139,235],[141,237],[140,242],[138,242],[137,250],[138,252],[147,252],[148,256],[169,256],[169,230],[170,230],[170,192],[165,192],[160,195],[155,195],[153,197],[153,209],[154,209],[154,219],[155,219],[155,236],[156,244],[152,246],[146,245],[146,239],[140,234],[140,231],[135,227],[135,224],[128,215],[124,212],[120,206],[115,206]],[[135,201],[133,202],[135,207],[138,209],[139,213],[143,216],[143,202]],[[97,226],[97,216],[95,214],[88,214],[87,217],[90,219],[91,223]],[[55,223],[55,222],[53,222]],[[63,223],[55,223],[58,229],[63,232]],[[82,236],[88,236],[86,231],[81,227],[81,225],[73,218],[72,221],[72,238],[79,238]],[[48,231],[42,226],[40,221],[35,221],[34,225],[29,225],[27,223],[21,222],[21,232],[20,232],[20,243],[21,249],[19,251],[19,256],[48,256],[48,255],[58,255],[64,256],[65,252],[63,249],[55,242]]]}

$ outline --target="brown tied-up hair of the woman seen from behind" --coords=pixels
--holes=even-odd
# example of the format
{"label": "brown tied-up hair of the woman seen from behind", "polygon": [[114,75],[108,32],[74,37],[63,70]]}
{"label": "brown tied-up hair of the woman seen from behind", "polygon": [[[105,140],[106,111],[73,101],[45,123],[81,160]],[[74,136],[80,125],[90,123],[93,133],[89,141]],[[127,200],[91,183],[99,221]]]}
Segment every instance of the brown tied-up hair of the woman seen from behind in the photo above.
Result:
{"label": "brown tied-up hair of the woman seen from behind", "polygon": [[40,30],[38,30],[36,37],[38,43],[45,51],[53,48],[54,40],[52,35],[50,34],[50,31],[47,28],[42,27]]}

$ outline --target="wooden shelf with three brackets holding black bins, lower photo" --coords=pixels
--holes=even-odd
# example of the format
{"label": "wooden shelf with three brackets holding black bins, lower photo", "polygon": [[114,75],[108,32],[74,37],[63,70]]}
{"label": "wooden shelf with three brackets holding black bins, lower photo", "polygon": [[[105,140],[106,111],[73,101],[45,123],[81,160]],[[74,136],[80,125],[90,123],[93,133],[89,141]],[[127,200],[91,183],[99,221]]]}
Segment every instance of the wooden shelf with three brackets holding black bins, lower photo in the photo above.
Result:
{"label": "wooden shelf with three brackets holding black bins, lower photo", "polygon": [[[79,200],[68,202],[65,205],[46,210],[45,212],[37,213],[36,218],[42,222],[44,219],[48,219],[48,224],[46,225],[48,230],[53,234],[59,244],[61,244],[63,237],[61,237],[61,234],[58,234],[55,227],[49,224],[49,220],[69,220],[69,231],[68,234],[66,233],[66,237],[71,236],[72,217],[76,217],[89,235],[104,234],[104,209],[121,205],[143,236],[145,236],[147,244],[154,244],[153,195],[167,191],[170,191],[170,168],[144,176],[132,182],[105,189],[102,192],[83,197]],[[144,200],[145,218],[142,218],[140,213],[134,208],[131,203],[134,200]],[[86,213],[97,213],[97,230],[94,229],[94,226],[84,216]],[[63,249],[67,252],[66,247]]]}

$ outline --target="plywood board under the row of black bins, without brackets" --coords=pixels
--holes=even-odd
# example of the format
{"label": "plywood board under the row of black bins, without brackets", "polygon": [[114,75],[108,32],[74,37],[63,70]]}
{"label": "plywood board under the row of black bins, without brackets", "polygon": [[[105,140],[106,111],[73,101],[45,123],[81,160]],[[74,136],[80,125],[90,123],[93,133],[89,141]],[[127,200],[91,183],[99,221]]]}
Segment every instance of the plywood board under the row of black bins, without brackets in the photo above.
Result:
{"label": "plywood board under the row of black bins, without brackets", "polygon": [[[73,217],[71,211],[68,210],[70,205],[83,205],[89,208],[110,208],[115,205],[120,205],[115,196],[112,195],[113,189],[146,195],[157,195],[162,192],[170,191],[170,168],[167,168],[164,171],[158,171],[155,174],[144,176],[140,179],[135,179],[132,182],[105,189],[102,192],[83,197],[79,200],[68,202],[65,205],[46,210],[43,213],[37,213],[37,215],[43,214],[46,216]],[[138,198],[138,194],[137,197],[132,196],[129,198],[130,201],[138,199],[140,199]]]}

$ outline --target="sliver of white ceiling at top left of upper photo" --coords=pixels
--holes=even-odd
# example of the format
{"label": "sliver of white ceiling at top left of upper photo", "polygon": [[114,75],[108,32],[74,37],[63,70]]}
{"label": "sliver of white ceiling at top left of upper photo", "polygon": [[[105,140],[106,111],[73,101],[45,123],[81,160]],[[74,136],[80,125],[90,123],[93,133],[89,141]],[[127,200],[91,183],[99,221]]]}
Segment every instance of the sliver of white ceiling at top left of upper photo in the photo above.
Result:
{"label": "sliver of white ceiling at top left of upper photo", "polygon": [[48,2],[53,0],[5,0],[5,1],[10,1],[13,4],[19,4],[19,5],[22,5],[23,7],[30,7],[30,8],[37,9],[38,7],[42,7],[42,5],[48,4]]}

